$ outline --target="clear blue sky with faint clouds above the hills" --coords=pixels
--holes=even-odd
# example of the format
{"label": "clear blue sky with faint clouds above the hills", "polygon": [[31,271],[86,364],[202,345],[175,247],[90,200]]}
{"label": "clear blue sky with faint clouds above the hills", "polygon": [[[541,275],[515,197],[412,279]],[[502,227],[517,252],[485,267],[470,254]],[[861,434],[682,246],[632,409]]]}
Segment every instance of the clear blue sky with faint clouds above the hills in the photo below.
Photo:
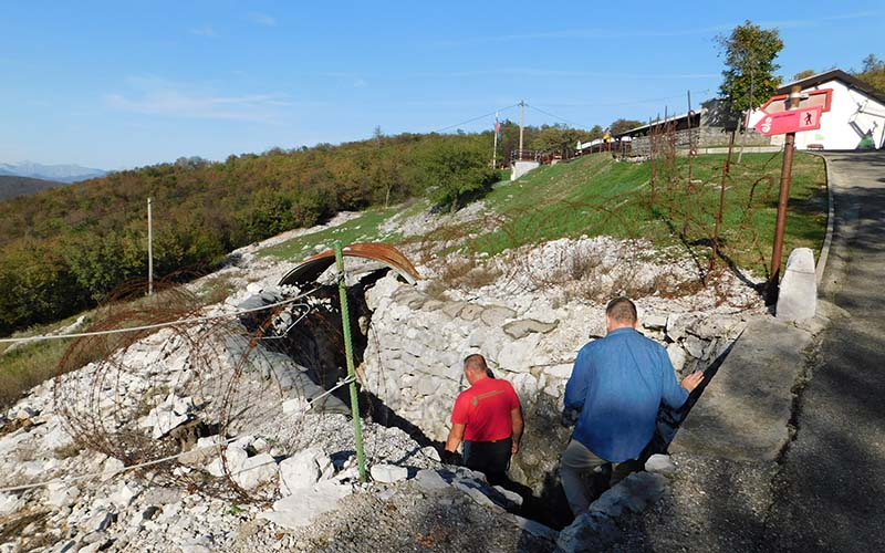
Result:
{"label": "clear blue sky with faint clouds above the hills", "polygon": [[521,98],[546,112],[528,124],[647,119],[716,94],[712,39],[746,19],[780,29],[785,77],[885,58],[881,1],[0,0],[0,163],[119,169],[375,126],[479,131],[493,115],[458,124]]}

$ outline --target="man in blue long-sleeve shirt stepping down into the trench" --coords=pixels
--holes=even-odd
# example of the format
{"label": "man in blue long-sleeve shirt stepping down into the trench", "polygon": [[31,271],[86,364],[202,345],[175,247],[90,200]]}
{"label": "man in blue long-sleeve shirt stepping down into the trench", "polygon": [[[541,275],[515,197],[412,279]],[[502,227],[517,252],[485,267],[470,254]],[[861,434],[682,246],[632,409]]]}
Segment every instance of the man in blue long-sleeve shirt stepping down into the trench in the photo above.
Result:
{"label": "man in blue long-sleeve shirt stepping down into the trench", "polygon": [[696,372],[676,382],[666,349],[636,332],[636,305],[628,299],[608,303],[605,323],[608,334],[581,348],[565,385],[565,408],[580,415],[560,478],[575,515],[590,507],[585,474],[638,458],[655,431],[660,403],[681,407],[704,379]]}

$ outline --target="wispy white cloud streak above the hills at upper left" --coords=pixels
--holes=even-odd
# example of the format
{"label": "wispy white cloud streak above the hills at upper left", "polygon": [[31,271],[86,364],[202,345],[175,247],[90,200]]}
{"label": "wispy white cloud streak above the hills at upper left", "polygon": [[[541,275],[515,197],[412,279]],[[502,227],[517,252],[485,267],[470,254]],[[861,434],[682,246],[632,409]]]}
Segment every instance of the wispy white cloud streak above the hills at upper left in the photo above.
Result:
{"label": "wispy white cloud streak above the hills at upper left", "polygon": [[155,76],[132,76],[126,82],[129,93],[104,94],[107,107],[146,115],[274,123],[283,115],[283,108],[293,105],[284,94],[275,92],[225,94]]}

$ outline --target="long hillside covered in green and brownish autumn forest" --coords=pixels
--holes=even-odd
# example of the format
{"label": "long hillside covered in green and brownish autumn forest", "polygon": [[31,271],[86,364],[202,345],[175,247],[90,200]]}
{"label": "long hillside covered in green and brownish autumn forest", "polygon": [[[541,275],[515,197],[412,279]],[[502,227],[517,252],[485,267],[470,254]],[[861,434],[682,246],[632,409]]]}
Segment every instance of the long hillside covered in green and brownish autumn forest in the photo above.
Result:
{"label": "long hillside covered in green and brownish autumn forest", "polygon": [[[589,133],[528,128],[525,146],[574,145]],[[500,156],[518,128],[503,126]],[[240,246],[339,210],[429,195],[457,208],[494,181],[492,134],[403,134],[298,150],[175,163],[0,201],[0,335],[62,319],[147,273],[146,200],[158,276],[208,270]],[[499,157],[500,158],[500,157]]]}

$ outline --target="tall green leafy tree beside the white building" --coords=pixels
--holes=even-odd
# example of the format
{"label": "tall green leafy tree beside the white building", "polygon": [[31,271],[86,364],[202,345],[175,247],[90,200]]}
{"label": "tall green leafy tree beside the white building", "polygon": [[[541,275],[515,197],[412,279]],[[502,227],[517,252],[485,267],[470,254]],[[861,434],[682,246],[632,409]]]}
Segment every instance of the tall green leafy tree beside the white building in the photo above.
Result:
{"label": "tall green leafy tree beside the white building", "polygon": [[719,91],[732,109],[743,112],[766,102],[781,83],[774,75],[780,69],[774,59],[783,49],[780,32],[746,21],[716,42],[726,64]]}

